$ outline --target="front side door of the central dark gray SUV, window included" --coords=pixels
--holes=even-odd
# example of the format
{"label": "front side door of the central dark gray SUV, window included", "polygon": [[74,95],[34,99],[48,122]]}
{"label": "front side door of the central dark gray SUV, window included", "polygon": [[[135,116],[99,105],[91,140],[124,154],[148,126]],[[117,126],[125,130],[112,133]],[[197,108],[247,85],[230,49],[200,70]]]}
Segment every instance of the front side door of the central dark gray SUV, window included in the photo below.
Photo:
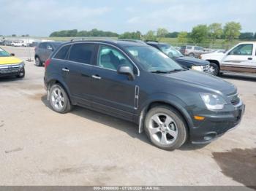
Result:
{"label": "front side door of the central dark gray SUV, window included", "polygon": [[92,73],[92,105],[119,117],[132,119],[136,109],[135,91],[138,93],[138,76],[134,80],[125,74],[118,74],[119,65],[130,66],[135,75],[138,70],[132,61],[115,47],[99,45],[97,66]]}

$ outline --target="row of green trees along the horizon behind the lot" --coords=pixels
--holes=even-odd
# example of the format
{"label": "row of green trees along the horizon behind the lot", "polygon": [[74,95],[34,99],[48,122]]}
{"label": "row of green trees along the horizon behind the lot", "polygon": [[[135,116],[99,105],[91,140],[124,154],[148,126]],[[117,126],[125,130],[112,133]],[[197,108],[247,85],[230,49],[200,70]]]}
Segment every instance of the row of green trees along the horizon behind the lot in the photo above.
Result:
{"label": "row of green trees along the horizon behind the lot", "polygon": [[174,31],[169,32],[166,28],[158,28],[157,31],[148,31],[142,34],[140,31],[125,32],[124,34],[117,34],[111,31],[101,31],[97,28],[91,31],[64,30],[55,31],[50,34],[50,37],[87,37],[87,36],[105,36],[118,37],[118,39],[144,39],[144,40],[158,40],[162,38],[178,38],[179,43],[210,43],[214,44],[217,39],[225,39],[226,42],[233,42],[234,39],[253,40],[256,39],[256,33],[244,32],[241,33],[241,24],[236,22],[212,23],[211,25],[197,25],[192,28],[192,31]]}

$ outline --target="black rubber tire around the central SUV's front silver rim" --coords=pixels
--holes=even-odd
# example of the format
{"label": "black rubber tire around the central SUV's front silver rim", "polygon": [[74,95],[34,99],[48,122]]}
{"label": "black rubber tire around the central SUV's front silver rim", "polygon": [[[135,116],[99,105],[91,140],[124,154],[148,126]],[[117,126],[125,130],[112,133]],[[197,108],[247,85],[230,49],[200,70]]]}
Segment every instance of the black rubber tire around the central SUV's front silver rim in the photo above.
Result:
{"label": "black rubber tire around the central SUV's front silver rim", "polygon": [[[173,140],[173,142],[170,142],[170,144],[161,144],[159,141],[157,141],[154,137],[156,135],[159,135],[157,132],[154,134],[154,136],[150,133],[150,125],[151,125],[151,117],[155,116],[156,114],[167,114],[170,116],[175,122],[176,125],[176,130],[177,130],[177,136],[176,139]],[[151,140],[151,143],[154,144],[155,146],[159,147],[160,149],[165,149],[165,150],[174,150],[178,149],[183,145],[188,138],[188,131],[187,131],[187,123],[185,122],[184,118],[177,112],[176,109],[173,109],[170,106],[165,106],[165,105],[160,105],[160,106],[155,106],[154,108],[150,109],[148,113],[146,114],[146,118],[144,121],[144,127],[146,131],[146,135],[148,136],[148,139]],[[166,126],[165,126],[166,127]],[[168,125],[170,127],[170,124]],[[158,139],[158,138],[157,138]],[[160,138],[159,138],[160,139]]]}

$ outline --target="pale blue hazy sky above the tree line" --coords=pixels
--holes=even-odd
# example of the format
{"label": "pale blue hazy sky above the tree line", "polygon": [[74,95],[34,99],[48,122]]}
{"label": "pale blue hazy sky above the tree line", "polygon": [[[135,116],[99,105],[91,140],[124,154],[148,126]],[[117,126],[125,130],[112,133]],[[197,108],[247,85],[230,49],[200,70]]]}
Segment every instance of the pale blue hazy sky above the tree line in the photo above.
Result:
{"label": "pale blue hazy sky above the tree line", "polygon": [[0,35],[49,36],[92,28],[145,34],[230,21],[240,22],[244,32],[256,32],[255,7],[255,0],[0,0]]}

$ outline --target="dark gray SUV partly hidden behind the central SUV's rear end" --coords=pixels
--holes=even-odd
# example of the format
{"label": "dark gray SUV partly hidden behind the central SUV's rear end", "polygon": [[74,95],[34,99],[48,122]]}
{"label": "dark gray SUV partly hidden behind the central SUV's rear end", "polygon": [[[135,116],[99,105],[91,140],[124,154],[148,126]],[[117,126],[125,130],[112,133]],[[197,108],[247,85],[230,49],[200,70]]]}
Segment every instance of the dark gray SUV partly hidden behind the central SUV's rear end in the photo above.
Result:
{"label": "dark gray SUV partly hidden behind the central SUV's rear end", "polygon": [[62,42],[40,42],[34,48],[34,60],[36,66],[42,66],[42,63],[48,59],[50,54],[56,50]]}

